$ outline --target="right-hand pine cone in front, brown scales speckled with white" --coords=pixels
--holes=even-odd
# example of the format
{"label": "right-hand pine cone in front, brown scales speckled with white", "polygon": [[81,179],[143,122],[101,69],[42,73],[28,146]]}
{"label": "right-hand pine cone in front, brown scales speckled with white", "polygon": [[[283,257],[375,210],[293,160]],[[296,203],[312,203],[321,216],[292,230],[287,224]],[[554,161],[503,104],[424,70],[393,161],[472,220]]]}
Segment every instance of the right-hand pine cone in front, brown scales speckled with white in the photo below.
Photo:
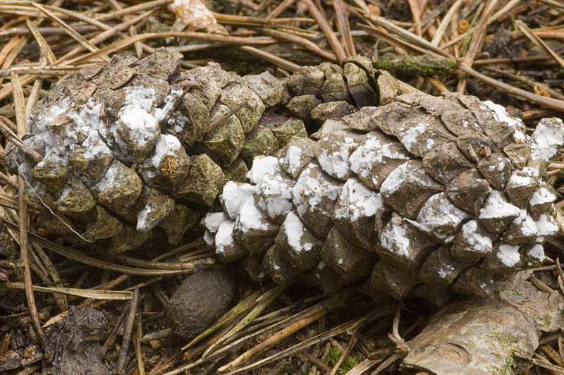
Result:
{"label": "right-hand pine cone in front, brown scales speckled with white", "polygon": [[465,292],[537,266],[558,232],[545,180],[564,124],[524,129],[503,107],[456,93],[364,106],[325,121],[317,141],[293,137],[255,159],[250,183],[226,183],[206,238],[255,280],[298,277],[332,293],[370,276],[360,289],[375,299],[441,305],[453,283]]}

